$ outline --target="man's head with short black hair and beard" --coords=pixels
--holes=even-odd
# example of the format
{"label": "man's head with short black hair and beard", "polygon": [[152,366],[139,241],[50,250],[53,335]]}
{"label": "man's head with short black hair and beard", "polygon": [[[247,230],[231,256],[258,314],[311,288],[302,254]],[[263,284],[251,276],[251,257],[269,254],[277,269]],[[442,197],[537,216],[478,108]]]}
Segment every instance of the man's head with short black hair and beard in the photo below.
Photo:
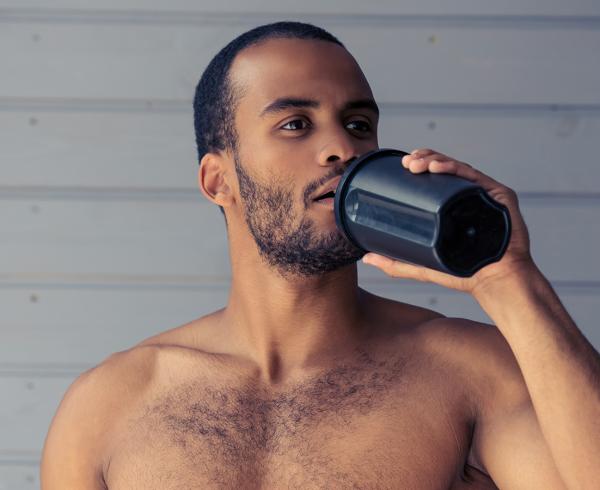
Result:
{"label": "man's head with short black hair and beard", "polygon": [[[313,275],[362,250],[315,193],[377,148],[377,106],[354,58],[331,34],[280,22],[230,42],[194,99],[200,187],[228,218],[242,216],[262,258]],[[234,178],[235,177],[235,178]]]}

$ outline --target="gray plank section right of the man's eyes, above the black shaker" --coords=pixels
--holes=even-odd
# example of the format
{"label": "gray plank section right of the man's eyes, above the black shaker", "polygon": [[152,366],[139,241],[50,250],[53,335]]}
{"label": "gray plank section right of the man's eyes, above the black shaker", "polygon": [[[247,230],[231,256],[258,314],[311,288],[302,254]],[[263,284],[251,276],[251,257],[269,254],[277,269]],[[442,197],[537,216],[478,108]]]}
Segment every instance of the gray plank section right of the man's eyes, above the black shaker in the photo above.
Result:
{"label": "gray plank section right of the man's eyes, above the black shaker", "polygon": [[600,184],[599,115],[393,115],[379,134],[382,148],[433,148],[517,192],[597,193]]}

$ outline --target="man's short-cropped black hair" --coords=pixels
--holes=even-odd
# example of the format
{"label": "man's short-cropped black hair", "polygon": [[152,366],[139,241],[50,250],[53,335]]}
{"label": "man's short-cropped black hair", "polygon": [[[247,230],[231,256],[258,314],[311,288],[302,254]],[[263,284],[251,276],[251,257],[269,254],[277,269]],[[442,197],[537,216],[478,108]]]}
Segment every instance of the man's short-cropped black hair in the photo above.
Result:
{"label": "man's short-cropped black hair", "polygon": [[[240,34],[210,61],[202,74],[194,95],[194,130],[198,148],[198,163],[206,153],[238,149],[235,129],[235,111],[241,95],[234,87],[229,69],[236,55],[243,49],[275,38],[316,39],[345,46],[326,30],[303,22],[274,22],[255,27]],[[223,208],[221,212],[223,214]]]}

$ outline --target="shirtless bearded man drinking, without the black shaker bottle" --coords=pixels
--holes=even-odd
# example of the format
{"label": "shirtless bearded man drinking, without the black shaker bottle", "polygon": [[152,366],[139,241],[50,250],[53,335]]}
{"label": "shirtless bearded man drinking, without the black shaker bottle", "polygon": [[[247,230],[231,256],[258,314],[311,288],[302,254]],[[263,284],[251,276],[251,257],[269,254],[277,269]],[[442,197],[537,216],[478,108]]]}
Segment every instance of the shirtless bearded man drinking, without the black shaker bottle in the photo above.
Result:
{"label": "shirtless bearded man drinking, without the black shaker bottle", "polygon": [[[413,76],[418,76],[415,74]],[[325,31],[276,23],[213,59],[195,99],[199,186],[224,212],[227,306],[82,374],[49,430],[53,489],[600,488],[600,361],[535,266],[513,191],[430,149],[506,204],[501,261],[456,278],[478,324],[357,286],[331,198],[378,147],[378,109]]]}

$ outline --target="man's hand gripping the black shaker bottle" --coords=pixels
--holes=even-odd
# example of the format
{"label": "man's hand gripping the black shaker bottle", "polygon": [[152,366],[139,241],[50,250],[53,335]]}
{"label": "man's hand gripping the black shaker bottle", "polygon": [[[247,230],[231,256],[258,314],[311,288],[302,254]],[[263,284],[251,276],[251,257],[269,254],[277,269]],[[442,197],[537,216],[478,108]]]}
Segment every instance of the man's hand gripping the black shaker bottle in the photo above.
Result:
{"label": "man's hand gripping the black shaker bottle", "polygon": [[394,260],[372,252],[364,256],[364,263],[374,265],[392,277],[434,282],[447,288],[471,294],[485,288],[491,282],[506,277],[507,274],[527,274],[527,271],[533,265],[533,259],[529,250],[529,233],[519,210],[515,191],[474,169],[468,163],[454,160],[429,148],[417,149],[410,155],[404,156],[402,165],[413,173],[429,171],[432,173],[454,174],[483,187],[493,199],[508,208],[512,222],[512,233],[508,248],[501,260],[488,264],[468,278],[457,277],[428,267]]}

